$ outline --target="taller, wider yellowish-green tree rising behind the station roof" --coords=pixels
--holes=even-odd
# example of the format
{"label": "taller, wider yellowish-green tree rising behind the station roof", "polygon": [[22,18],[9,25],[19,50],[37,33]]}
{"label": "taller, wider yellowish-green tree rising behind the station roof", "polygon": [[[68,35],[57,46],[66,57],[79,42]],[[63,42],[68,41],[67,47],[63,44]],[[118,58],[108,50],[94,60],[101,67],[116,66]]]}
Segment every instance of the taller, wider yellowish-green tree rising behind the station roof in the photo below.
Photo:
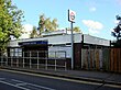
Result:
{"label": "taller, wider yellowish-green tree rising behind the station roof", "polygon": [[57,27],[58,27],[57,19],[51,21],[51,18],[45,18],[44,14],[40,15],[38,21],[40,35],[43,32],[56,31]]}

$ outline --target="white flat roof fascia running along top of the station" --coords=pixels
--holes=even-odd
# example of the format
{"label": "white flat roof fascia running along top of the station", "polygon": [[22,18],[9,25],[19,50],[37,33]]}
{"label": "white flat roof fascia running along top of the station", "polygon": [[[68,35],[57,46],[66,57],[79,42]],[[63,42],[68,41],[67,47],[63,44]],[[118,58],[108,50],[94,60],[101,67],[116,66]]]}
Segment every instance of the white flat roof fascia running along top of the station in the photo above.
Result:
{"label": "white flat roof fascia running along top of the station", "polygon": [[[84,35],[84,43],[86,44],[110,46],[109,40],[91,36],[88,34],[81,34],[81,33],[74,34],[74,43],[81,43],[82,35]],[[59,44],[68,44],[70,43],[72,40],[70,40],[70,34],[51,35],[51,36],[36,37],[36,38],[14,40],[10,42],[9,46],[19,46],[19,43],[35,42],[35,41],[47,41],[50,45],[59,45]]]}

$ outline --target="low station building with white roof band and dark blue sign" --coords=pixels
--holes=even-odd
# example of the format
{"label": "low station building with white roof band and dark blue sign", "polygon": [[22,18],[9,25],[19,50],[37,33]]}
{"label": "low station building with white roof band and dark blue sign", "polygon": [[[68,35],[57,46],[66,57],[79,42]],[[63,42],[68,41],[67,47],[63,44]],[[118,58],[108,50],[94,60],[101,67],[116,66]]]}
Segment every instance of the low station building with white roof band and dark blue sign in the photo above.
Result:
{"label": "low station building with white roof band and dark blue sign", "polygon": [[[22,56],[23,52],[66,52],[66,58],[72,57],[70,34],[62,31],[43,34],[42,37],[14,40],[8,45],[9,56]],[[110,41],[95,37],[88,34],[74,33],[74,65],[81,66],[81,49],[82,48],[102,48],[110,47]],[[16,53],[18,52],[18,53]],[[28,56],[28,53],[25,54]],[[36,56],[34,53],[33,56]],[[40,57],[45,57],[43,53]],[[62,56],[58,55],[59,57]],[[70,63],[69,63],[70,64]]]}

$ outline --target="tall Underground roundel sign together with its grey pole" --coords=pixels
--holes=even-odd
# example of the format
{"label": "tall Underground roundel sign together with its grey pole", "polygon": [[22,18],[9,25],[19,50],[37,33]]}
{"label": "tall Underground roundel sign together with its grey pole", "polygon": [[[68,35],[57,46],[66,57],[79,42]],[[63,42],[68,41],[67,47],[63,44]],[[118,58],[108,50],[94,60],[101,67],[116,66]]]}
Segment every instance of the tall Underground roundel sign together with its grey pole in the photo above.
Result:
{"label": "tall Underground roundel sign together with its grey pole", "polygon": [[72,69],[74,69],[74,36],[73,36],[73,23],[75,23],[76,12],[68,10],[68,21],[70,22],[70,41],[72,41]]}

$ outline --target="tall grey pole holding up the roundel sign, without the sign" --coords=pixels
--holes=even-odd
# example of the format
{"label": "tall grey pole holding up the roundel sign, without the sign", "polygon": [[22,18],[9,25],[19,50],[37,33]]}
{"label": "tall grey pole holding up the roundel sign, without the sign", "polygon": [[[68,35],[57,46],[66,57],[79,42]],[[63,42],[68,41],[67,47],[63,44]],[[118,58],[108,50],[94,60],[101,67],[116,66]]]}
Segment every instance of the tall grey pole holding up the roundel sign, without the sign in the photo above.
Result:
{"label": "tall grey pole holding up the roundel sign, without the sign", "polygon": [[74,69],[74,35],[73,35],[73,22],[70,22],[70,30],[72,30],[72,69]]}

